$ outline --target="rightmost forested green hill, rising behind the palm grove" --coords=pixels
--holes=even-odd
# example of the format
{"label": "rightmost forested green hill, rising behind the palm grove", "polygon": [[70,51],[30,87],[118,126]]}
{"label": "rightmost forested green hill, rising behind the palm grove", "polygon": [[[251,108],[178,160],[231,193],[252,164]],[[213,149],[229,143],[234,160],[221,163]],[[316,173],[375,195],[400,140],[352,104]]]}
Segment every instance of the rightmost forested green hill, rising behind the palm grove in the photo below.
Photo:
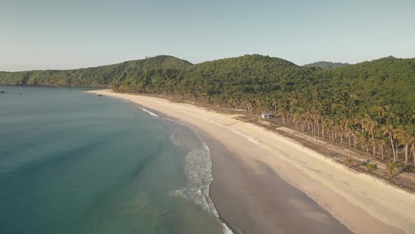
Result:
{"label": "rightmost forested green hill, rising behind the palm grove", "polygon": [[415,58],[389,56],[316,75],[360,101],[415,108]]}

